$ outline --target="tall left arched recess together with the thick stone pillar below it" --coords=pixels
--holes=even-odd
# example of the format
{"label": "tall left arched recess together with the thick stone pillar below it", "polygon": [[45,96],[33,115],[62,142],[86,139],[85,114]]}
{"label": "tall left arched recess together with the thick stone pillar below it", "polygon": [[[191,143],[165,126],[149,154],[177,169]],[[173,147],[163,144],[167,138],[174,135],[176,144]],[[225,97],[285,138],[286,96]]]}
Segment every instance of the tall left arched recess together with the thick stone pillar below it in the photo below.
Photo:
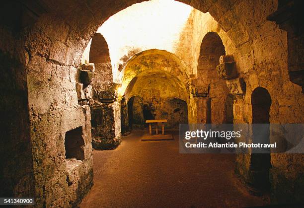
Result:
{"label": "tall left arched recess together with the thick stone pillar below it", "polygon": [[100,33],[93,36],[82,54],[82,60],[85,63],[81,65],[80,74],[86,74],[88,81],[83,83],[85,97],[81,97],[81,88],[77,95],[81,98],[80,105],[88,104],[90,107],[92,146],[95,149],[115,148],[120,142],[121,133],[128,133],[125,123],[128,118],[124,115],[127,110],[124,100],[118,100],[108,44]]}

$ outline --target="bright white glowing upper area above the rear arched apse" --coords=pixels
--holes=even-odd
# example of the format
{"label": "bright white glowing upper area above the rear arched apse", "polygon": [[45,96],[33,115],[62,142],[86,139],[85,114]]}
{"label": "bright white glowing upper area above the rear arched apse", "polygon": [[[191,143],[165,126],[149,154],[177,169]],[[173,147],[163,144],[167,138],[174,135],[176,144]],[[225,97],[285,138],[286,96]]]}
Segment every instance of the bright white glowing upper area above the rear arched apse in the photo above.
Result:
{"label": "bright white glowing upper area above the rear arched apse", "polygon": [[112,65],[117,67],[128,49],[173,52],[191,8],[174,0],[150,0],[133,4],[111,16],[97,32],[108,43]]}

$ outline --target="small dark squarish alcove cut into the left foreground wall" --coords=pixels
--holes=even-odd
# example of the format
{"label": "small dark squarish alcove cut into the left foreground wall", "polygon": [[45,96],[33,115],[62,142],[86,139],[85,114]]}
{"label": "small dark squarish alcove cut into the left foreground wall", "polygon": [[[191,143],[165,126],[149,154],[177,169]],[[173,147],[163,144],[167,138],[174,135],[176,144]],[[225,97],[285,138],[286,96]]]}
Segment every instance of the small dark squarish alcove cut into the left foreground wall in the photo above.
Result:
{"label": "small dark squarish alcove cut into the left foreground wall", "polygon": [[83,151],[83,133],[82,127],[70,130],[66,132],[65,137],[65,149],[66,159],[76,158],[77,160],[84,159]]}

